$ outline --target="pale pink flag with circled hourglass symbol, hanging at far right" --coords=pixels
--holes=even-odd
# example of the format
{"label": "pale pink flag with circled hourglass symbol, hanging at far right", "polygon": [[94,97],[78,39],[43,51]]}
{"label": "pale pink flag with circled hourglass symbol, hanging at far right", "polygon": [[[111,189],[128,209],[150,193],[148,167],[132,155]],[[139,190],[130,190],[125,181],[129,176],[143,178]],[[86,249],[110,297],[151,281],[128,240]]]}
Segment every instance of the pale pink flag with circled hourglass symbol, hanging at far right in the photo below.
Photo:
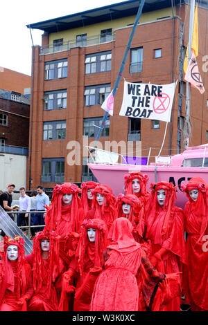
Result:
{"label": "pale pink flag with circled hourglass symbol, hanging at far right", "polygon": [[205,93],[205,88],[202,83],[202,78],[200,76],[200,72],[198,70],[198,64],[196,62],[196,57],[192,51],[191,59],[189,61],[189,65],[187,68],[187,73],[184,77],[184,80],[191,83],[191,86],[195,87],[200,91],[200,93]]}

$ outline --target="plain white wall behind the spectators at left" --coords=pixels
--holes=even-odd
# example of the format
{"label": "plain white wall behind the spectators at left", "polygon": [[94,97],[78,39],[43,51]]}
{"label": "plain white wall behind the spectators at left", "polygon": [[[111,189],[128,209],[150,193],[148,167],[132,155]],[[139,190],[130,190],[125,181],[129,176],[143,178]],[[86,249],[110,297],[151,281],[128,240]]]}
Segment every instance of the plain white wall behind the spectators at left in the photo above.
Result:
{"label": "plain white wall behind the spectators at left", "polygon": [[17,191],[19,187],[26,188],[26,159],[26,156],[0,152],[0,189],[5,191],[10,183],[15,184]]}

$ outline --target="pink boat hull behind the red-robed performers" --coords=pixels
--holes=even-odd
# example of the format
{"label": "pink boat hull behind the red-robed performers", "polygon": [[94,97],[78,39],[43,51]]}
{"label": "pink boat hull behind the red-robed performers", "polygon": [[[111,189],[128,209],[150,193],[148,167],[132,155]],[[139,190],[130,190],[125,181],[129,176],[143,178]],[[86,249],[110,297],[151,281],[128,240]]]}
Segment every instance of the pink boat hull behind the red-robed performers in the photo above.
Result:
{"label": "pink boat hull behind the red-robed performers", "polygon": [[141,171],[148,175],[148,190],[151,183],[170,182],[177,185],[177,199],[175,204],[184,208],[188,201],[187,196],[182,192],[181,185],[187,184],[188,181],[200,176],[208,183],[208,167],[165,167],[165,166],[139,166],[139,165],[102,165],[88,164],[92,173],[99,183],[108,185],[112,188],[115,196],[123,193],[124,175],[130,172]]}

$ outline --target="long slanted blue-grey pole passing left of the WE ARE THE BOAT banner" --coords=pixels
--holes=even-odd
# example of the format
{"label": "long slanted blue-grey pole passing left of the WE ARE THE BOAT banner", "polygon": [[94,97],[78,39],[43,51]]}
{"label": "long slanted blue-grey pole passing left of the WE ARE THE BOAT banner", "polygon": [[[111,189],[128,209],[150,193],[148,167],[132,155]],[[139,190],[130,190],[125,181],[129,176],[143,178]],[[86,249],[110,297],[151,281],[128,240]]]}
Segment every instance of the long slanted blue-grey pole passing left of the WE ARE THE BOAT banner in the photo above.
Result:
{"label": "long slanted blue-grey pole passing left of the WE ARE THE BOAT banner", "polygon": [[[122,75],[122,73],[123,73],[123,69],[124,69],[125,62],[126,62],[126,59],[127,59],[127,56],[128,56],[128,52],[129,52],[129,50],[130,50],[130,46],[131,46],[131,44],[132,44],[132,39],[133,39],[133,37],[134,37],[134,35],[135,35],[135,31],[136,31],[136,28],[137,28],[137,24],[138,24],[138,22],[139,22],[139,18],[140,18],[140,16],[141,16],[141,12],[142,12],[143,7],[144,7],[144,2],[145,2],[145,0],[141,0],[141,2],[140,2],[139,10],[138,10],[138,12],[137,12],[137,17],[136,17],[136,19],[135,19],[135,24],[134,24],[134,26],[133,26],[133,28],[132,28],[132,32],[131,32],[130,37],[129,37],[129,39],[128,39],[128,44],[127,44],[127,46],[126,46],[125,53],[124,53],[124,55],[123,55],[123,61],[121,62],[121,66],[120,66],[119,74],[118,74],[117,77],[116,77],[116,82],[115,82],[115,84],[114,84],[114,89],[112,90],[112,95],[113,95],[113,97],[115,97],[115,95],[116,95],[116,91],[117,91],[117,89],[118,89],[119,82],[120,82],[120,80],[121,80],[121,75]],[[108,112],[106,111],[105,114],[104,114],[104,116],[103,116],[103,120],[102,120],[102,123],[101,123],[101,127],[100,127],[100,129],[98,130],[98,134],[97,134],[97,136],[96,136],[96,141],[95,141],[95,143],[94,143],[94,148],[96,147],[96,144],[97,144],[97,142],[98,142],[98,139],[100,138],[101,133],[102,133],[102,131],[103,131],[103,128],[105,127],[105,121],[107,120],[107,115],[108,115]]]}

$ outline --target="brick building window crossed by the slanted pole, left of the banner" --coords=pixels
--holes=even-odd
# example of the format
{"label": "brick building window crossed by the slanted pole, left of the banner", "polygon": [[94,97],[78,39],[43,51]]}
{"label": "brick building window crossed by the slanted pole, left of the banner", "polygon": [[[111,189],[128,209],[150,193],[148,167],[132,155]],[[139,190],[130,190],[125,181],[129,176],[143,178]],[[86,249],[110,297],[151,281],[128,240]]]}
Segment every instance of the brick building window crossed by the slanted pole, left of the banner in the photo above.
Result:
{"label": "brick building window crossed by the slanted pole, left of the banner", "polygon": [[[96,138],[98,131],[101,127],[103,118],[84,118],[84,136],[88,138]],[[105,127],[101,133],[101,136],[109,136],[110,131],[110,119],[105,121]]]}

